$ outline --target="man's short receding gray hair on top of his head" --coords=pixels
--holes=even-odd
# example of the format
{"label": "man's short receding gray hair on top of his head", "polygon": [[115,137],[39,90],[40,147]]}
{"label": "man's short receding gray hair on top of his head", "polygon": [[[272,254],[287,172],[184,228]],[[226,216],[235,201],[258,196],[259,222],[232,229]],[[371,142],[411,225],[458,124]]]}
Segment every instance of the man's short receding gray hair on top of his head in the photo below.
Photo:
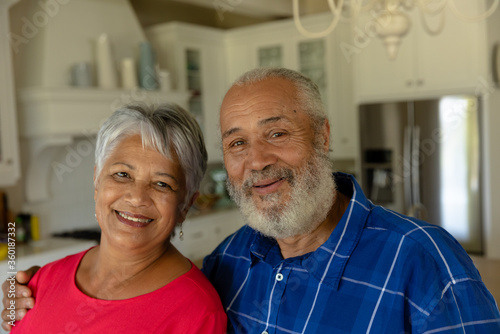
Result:
{"label": "man's short receding gray hair on top of his head", "polygon": [[252,85],[269,78],[285,79],[295,86],[301,109],[309,115],[313,129],[316,132],[320,131],[328,116],[318,86],[305,75],[287,68],[261,67],[244,73],[233,86]]}

